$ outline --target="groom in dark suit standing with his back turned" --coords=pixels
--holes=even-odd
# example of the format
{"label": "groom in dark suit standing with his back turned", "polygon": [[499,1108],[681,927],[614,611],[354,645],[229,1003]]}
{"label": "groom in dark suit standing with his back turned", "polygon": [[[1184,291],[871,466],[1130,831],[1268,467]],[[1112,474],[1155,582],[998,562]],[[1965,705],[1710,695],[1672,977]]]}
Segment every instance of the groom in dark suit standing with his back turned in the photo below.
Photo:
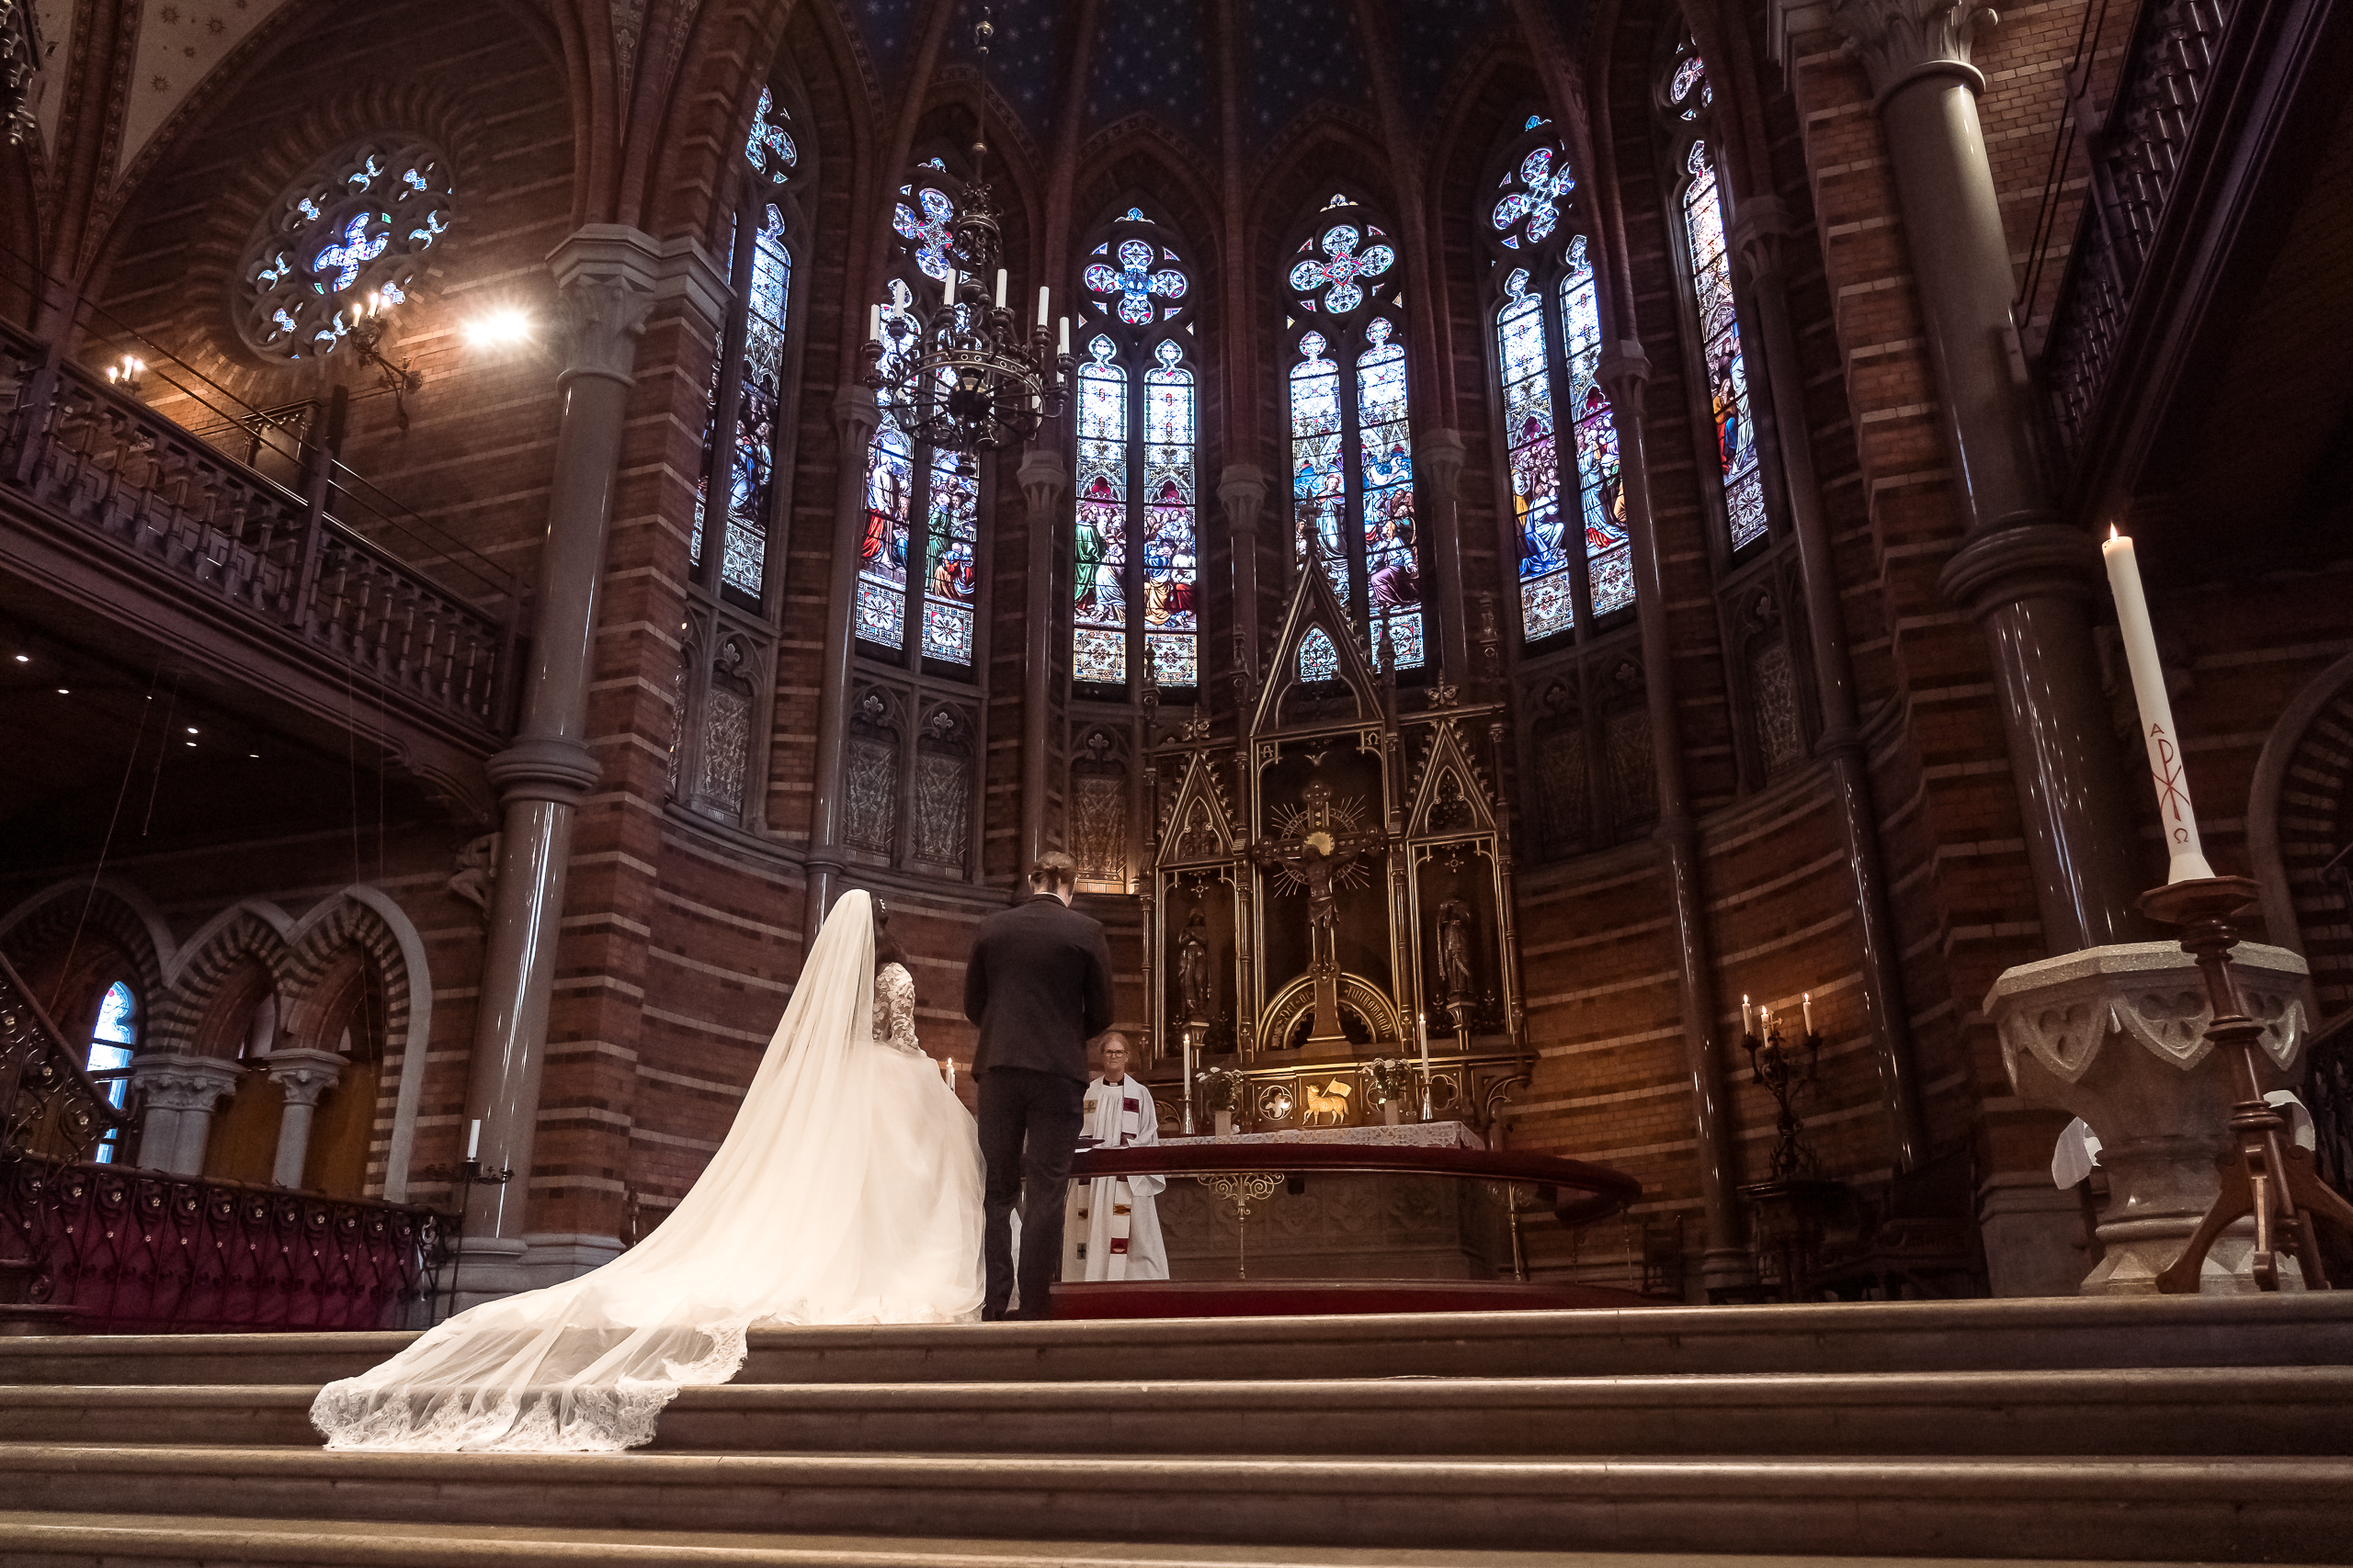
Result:
{"label": "groom in dark suit standing with his back turned", "polygon": [[[1061,1206],[1078,1147],[1087,1041],[1111,1027],[1111,945],[1071,907],[1078,863],[1049,849],[1031,896],[981,922],[965,966],[965,1018],[981,1027],[972,1077],[981,1086],[988,1161],[981,1316],[1005,1316],[1014,1291],[1012,1208],[1021,1204],[1021,1316],[1047,1314],[1061,1260]],[[1024,1150],[1024,1143],[1028,1145]]]}

